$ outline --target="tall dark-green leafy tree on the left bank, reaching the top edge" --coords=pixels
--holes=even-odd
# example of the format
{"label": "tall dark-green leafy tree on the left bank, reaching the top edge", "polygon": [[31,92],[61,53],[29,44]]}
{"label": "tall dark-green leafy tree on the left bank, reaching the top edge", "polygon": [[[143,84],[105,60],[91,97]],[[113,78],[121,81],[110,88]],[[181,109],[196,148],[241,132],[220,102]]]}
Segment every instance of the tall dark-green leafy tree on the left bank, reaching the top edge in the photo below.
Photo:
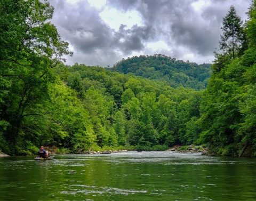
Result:
{"label": "tall dark-green leafy tree on the left bank, reaching the top edge", "polygon": [[0,2],[0,119],[9,123],[4,136],[13,146],[26,119],[48,99],[52,68],[71,54],[52,14],[53,7],[39,0]]}

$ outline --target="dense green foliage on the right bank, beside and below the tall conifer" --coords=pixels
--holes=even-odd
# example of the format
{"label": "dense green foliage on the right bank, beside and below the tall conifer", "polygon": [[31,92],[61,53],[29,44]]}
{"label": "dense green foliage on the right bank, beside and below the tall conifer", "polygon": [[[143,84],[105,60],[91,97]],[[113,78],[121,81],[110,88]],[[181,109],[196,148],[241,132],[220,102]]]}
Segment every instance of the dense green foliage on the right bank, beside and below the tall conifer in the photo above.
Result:
{"label": "dense green foliage on the right bank, beside and below the tall conifer", "polygon": [[[202,142],[209,143],[211,151],[217,154],[255,155],[255,5],[255,1],[252,1],[249,21],[243,30],[249,46],[237,58],[225,60],[222,55],[217,55],[213,69],[218,70],[214,71],[203,96],[200,136]],[[229,20],[238,18],[235,16]],[[234,49],[231,44],[228,46]]]}

